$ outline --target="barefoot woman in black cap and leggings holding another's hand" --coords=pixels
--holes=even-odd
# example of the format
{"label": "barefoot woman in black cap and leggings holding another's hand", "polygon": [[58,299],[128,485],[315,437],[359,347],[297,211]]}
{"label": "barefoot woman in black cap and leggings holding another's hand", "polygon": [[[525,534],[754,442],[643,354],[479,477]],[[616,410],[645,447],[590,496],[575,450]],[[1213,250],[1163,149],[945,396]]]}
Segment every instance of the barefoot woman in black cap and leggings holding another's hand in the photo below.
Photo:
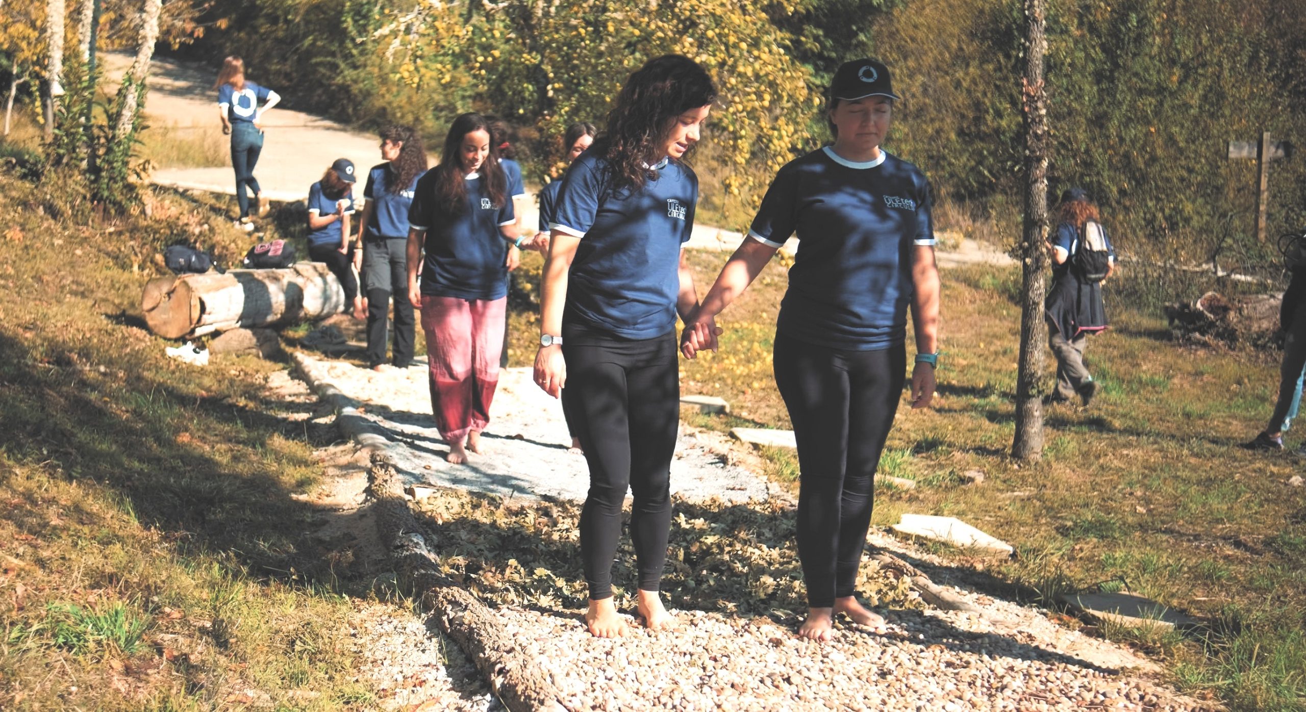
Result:
{"label": "barefoot woman in black cap and leggings holding another's hand", "polygon": [[902,392],[908,311],[917,351],[912,408],[934,396],[939,270],[930,186],[880,148],[895,99],[883,64],[838,68],[825,107],[833,145],[780,169],[682,342],[688,358],[716,349],[712,317],[797,234],[774,370],[798,440],[798,557],[808,605],[798,634],[814,640],[829,640],[836,613],[865,626],[884,622],[854,588],[875,468]]}

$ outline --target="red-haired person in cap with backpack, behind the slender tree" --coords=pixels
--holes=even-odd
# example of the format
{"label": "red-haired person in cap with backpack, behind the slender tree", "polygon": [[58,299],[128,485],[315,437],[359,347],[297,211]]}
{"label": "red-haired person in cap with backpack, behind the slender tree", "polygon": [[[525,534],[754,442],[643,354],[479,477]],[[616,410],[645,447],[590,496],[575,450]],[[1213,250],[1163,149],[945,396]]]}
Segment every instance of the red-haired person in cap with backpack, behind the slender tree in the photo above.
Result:
{"label": "red-haired person in cap with backpack, behind the slender tree", "polygon": [[[1115,252],[1088,191],[1071,188],[1062,193],[1059,213],[1057,236],[1047,246],[1053,285],[1043,307],[1047,345],[1057,355],[1057,389],[1047,400],[1068,402],[1079,396],[1087,408],[1097,395],[1097,381],[1084,367],[1084,345],[1088,334],[1106,329],[1102,281],[1115,270]],[[1093,253],[1105,257],[1100,272],[1084,267]]]}

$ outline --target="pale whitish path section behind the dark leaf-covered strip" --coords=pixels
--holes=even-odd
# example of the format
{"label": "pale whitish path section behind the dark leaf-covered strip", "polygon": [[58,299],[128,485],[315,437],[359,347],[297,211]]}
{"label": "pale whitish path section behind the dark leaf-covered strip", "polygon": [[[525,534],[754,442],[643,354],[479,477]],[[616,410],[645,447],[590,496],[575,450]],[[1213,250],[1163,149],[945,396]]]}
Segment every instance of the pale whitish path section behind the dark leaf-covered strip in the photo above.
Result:
{"label": "pale whitish path section behind the dark leaf-covered strip", "polygon": [[[362,404],[360,412],[390,440],[392,464],[410,485],[460,487],[500,495],[581,500],[589,489],[585,459],[567,449],[562,405],[532,381],[530,368],[500,371],[485,452],[466,465],[444,461],[448,445],[431,419],[424,363],[377,374],[340,361],[306,357],[312,380],[325,380]],[[767,482],[731,465],[696,435],[682,434],[671,462],[671,491],[686,499],[765,499]]]}

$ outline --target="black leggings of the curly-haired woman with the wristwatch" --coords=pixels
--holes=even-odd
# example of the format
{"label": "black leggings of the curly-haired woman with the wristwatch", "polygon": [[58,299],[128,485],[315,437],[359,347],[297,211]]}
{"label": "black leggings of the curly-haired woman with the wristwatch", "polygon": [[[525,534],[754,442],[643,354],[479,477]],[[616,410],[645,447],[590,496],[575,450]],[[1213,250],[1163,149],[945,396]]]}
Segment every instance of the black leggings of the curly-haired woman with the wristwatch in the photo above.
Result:
{"label": "black leggings of the curly-haired woman with the wristwatch", "polygon": [[592,601],[613,596],[622,502],[635,495],[631,541],[640,591],[657,591],[671,529],[671,456],[680,418],[675,332],[632,341],[563,327],[567,388],[589,462],[580,553]]}

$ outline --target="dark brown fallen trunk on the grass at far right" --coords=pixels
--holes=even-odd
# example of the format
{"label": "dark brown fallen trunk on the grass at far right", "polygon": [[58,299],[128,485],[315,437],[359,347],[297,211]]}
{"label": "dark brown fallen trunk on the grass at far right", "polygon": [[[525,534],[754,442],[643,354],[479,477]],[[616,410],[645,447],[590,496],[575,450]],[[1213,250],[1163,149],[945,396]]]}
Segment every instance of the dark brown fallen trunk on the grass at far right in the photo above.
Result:
{"label": "dark brown fallen trunk on the grass at far right", "polygon": [[1165,307],[1170,331],[1179,341],[1268,344],[1279,332],[1282,294],[1222,297],[1208,291],[1190,303]]}

